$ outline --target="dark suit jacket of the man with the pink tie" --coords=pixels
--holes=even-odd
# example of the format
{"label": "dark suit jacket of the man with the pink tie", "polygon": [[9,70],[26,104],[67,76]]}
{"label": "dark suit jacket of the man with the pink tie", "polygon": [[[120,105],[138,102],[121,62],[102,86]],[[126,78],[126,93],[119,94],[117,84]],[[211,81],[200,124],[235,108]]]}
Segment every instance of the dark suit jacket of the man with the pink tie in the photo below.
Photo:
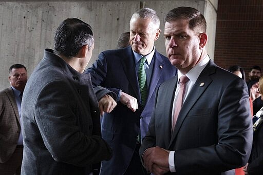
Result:
{"label": "dark suit jacket of the man with the pink tie", "polygon": [[210,61],[185,99],[171,133],[176,87],[177,76],[160,85],[140,155],[155,146],[174,150],[175,174],[220,174],[245,165],[253,134],[245,82]]}

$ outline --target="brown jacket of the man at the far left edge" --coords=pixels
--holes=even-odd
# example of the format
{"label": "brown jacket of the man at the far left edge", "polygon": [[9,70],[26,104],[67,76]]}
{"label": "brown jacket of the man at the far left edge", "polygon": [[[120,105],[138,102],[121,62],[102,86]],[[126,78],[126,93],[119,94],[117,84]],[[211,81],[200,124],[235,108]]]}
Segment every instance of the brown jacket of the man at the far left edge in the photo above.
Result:
{"label": "brown jacket of the man at the far left edge", "polygon": [[0,163],[13,154],[21,132],[20,116],[11,87],[0,91]]}

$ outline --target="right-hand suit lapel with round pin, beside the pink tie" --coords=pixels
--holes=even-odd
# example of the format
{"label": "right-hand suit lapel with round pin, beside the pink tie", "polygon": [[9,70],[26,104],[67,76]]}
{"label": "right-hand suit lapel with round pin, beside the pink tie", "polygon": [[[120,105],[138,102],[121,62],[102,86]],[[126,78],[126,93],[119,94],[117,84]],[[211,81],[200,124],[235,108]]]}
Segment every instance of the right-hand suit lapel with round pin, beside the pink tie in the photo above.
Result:
{"label": "right-hand suit lapel with round pin, beside the pink tie", "polygon": [[178,134],[178,131],[180,130],[180,127],[182,126],[182,123],[186,115],[192,109],[192,107],[197,102],[197,100],[200,98],[200,96],[203,94],[203,92],[211,84],[212,79],[210,78],[210,75],[214,72],[215,72],[214,66],[211,66],[211,61],[210,61],[209,64],[206,65],[206,67],[203,69],[203,71],[199,75],[196,83],[194,84],[193,88],[191,89],[190,93],[188,94],[187,98],[185,99],[183,103],[183,106],[178,115],[178,119],[175,125],[174,132],[172,133],[172,138],[171,138],[169,147],[172,145],[173,141],[175,140],[176,135]]}

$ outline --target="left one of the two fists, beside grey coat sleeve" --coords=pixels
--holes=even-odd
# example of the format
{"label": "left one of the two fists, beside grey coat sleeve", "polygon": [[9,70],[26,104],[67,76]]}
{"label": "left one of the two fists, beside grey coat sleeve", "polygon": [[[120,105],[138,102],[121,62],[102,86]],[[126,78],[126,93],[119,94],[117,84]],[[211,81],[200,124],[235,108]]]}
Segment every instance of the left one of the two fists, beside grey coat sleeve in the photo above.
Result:
{"label": "left one of the two fists, beside grey coat sleeve", "polygon": [[117,103],[115,100],[108,94],[104,95],[103,98],[99,101],[100,114],[103,115],[103,112],[111,112]]}

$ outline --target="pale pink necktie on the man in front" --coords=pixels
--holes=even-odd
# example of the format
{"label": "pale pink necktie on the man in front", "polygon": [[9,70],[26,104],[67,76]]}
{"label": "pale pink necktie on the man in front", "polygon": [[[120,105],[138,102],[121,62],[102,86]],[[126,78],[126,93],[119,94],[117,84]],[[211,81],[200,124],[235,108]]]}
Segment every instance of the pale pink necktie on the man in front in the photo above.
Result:
{"label": "pale pink necktie on the man in front", "polygon": [[175,112],[174,112],[174,119],[173,119],[173,127],[172,127],[172,131],[174,130],[177,118],[178,118],[178,114],[181,110],[182,104],[183,104],[183,96],[184,96],[184,92],[185,92],[185,83],[187,81],[189,81],[188,77],[186,75],[183,75],[180,77],[180,85],[179,85],[179,93],[178,93],[178,97],[175,103]]}

